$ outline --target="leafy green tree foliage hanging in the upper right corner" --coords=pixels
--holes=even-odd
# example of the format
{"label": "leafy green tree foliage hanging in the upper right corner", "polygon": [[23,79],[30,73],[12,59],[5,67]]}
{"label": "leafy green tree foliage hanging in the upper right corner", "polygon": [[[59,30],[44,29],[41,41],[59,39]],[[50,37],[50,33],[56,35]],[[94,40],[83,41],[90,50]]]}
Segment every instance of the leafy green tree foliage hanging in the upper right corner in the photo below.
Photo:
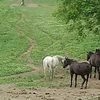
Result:
{"label": "leafy green tree foliage hanging in the upper right corner", "polygon": [[60,0],[54,16],[77,29],[79,35],[84,30],[100,35],[100,0]]}

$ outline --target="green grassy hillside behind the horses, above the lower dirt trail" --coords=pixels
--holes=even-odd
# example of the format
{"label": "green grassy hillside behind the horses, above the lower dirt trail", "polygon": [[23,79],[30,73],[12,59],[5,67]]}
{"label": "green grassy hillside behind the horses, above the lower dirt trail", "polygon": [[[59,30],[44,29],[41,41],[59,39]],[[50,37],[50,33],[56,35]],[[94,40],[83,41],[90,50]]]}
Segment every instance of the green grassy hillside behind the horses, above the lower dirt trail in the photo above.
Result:
{"label": "green grassy hillside behind the horses, above the lower dirt trail", "polygon": [[52,16],[56,7],[56,0],[26,0],[25,6],[20,0],[0,0],[0,76],[32,70],[25,65],[29,56],[18,60],[30,47],[27,38],[35,44],[30,52],[35,65],[42,65],[47,55],[83,60],[87,51],[100,47],[99,36],[82,38],[76,31],[68,32],[68,26]]}

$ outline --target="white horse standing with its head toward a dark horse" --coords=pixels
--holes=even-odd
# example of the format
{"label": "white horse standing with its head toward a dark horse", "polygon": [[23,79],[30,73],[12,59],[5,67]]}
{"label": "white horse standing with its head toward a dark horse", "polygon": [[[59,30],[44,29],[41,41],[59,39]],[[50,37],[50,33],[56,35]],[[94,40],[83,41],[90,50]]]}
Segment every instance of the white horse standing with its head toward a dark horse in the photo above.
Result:
{"label": "white horse standing with its head toward a dark horse", "polygon": [[65,57],[63,56],[47,56],[43,59],[43,67],[44,67],[44,77],[46,79],[46,69],[49,70],[49,79],[50,77],[53,79],[55,74],[55,68],[58,66],[59,62],[64,62]]}

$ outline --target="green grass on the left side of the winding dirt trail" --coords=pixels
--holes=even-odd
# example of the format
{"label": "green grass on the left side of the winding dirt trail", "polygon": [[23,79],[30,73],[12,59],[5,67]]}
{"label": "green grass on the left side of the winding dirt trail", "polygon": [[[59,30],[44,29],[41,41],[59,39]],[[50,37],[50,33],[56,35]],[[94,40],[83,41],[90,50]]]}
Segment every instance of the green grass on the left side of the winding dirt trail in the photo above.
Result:
{"label": "green grass on the left side of the winding dirt trail", "polygon": [[16,29],[16,23],[20,20],[20,9],[12,9],[9,6],[11,0],[0,2],[0,76],[31,71],[32,68],[17,61],[18,56],[29,45],[28,40],[21,36]]}

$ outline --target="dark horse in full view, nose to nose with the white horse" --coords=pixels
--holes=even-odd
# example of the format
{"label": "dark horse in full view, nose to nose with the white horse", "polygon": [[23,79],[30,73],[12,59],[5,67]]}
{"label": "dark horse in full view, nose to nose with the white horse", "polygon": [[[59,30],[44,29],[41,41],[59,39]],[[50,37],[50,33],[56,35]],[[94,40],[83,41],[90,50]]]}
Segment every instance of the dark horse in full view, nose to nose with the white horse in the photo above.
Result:
{"label": "dark horse in full view, nose to nose with the white horse", "polygon": [[[85,81],[86,81],[85,88],[87,88],[88,78],[89,78],[89,74],[91,72],[90,64],[87,62],[79,63],[76,60],[66,58],[63,63],[63,68],[67,67],[68,65],[70,66],[70,76],[71,76],[70,87],[72,87],[73,75],[75,74],[75,87],[77,86],[77,76],[81,75],[81,77],[83,79],[81,89],[83,89],[83,85],[84,85]],[[87,76],[87,78],[85,78],[85,75]]]}

